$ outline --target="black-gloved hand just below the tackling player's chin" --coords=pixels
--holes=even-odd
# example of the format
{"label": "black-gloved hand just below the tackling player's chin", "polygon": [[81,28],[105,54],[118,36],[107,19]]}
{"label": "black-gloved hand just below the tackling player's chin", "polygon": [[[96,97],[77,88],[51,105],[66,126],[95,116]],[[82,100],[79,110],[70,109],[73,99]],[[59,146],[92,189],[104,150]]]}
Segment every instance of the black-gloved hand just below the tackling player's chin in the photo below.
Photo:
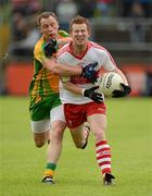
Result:
{"label": "black-gloved hand just below the tackling player's chin", "polygon": [[54,53],[56,53],[59,49],[59,45],[56,39],[50,39],[43,47],[43,52],[47,58],[52,57]]}

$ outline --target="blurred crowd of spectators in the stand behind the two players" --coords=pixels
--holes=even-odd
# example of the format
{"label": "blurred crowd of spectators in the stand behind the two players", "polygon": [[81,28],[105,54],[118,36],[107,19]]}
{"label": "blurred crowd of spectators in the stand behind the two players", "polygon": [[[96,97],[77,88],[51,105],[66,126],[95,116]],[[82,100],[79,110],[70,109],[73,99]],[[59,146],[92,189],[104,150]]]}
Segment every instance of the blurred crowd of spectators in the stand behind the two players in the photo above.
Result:
{"label": "blurred crowd of spectators in the stand behind the two players", "polygon": [[132,17],[135,22],[130,27],[130,39],[144,41],[144,29],[136,19],[151,17],[151,0],[0,0],[0,9],[8,5],[10,10],[10,50],[17,56],[33,51],[40,36],[36,17],[42,11],[55,12],[60,27],[67,32],[71,19],[77,14],[88,19]]}

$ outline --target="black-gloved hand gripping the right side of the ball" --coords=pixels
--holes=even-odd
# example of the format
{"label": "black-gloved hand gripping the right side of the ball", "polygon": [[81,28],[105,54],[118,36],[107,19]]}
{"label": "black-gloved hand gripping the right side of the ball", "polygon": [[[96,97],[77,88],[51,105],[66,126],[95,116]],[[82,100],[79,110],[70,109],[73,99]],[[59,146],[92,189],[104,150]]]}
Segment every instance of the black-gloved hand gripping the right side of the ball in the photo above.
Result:
{"label": "black-gloved hand gripping the right side of the ball", "polygon": [[130,91],[131,91],[131,87],[130,86],[125,85],[123,83],[121,83],[121,85],[123,87],[123,90],[114,90],[112,97],[119,98],[119,97],[125,97],[125,96],[130,94]]}

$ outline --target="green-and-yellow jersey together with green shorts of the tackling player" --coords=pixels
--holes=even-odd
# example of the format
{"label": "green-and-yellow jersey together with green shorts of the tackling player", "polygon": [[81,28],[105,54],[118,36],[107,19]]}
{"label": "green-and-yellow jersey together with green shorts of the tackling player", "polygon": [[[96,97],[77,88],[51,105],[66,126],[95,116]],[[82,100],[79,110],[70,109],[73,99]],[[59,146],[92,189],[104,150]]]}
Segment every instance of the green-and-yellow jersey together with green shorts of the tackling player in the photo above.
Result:
{"label": "green-and-yellow jersey together with green shorts of the tackling player", "polygon": [[[69,40],[71,38],[66,32],[59,30],[59,48]],[[29,111],[33,121],[50,119],[50,110],[61,105],[59,98],[60,76],[43,66],[45,45],[46,40],[42,36],[34,49],[34,76],[29,86]]]}

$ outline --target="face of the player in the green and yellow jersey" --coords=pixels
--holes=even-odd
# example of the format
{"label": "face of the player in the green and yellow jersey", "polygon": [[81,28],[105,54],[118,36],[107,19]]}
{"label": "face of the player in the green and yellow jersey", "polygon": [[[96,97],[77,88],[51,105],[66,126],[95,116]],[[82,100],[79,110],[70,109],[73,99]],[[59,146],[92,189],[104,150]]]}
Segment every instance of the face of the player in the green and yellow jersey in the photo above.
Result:
{"label": "face of the player in the green and yellow jersey", "polygon": [[54,17],[49,16],[48,19],[41,19],[40,32],[47,40],[50,38],[55,38],[58,35],[58,29],[59,23]]}

